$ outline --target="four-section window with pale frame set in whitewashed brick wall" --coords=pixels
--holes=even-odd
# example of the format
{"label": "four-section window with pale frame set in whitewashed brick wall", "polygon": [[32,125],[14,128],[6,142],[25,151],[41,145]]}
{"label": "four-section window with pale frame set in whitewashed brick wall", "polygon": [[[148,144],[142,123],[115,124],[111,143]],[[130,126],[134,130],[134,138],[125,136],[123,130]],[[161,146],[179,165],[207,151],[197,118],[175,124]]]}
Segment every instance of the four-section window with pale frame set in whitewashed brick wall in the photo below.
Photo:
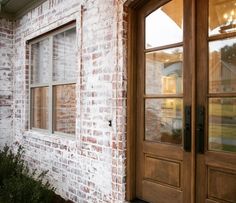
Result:
{"label": "four-section window with pale frame set in whitewashed brick wall", "polygon": [[75,134],[76,28],[30,43],[30,127]]}

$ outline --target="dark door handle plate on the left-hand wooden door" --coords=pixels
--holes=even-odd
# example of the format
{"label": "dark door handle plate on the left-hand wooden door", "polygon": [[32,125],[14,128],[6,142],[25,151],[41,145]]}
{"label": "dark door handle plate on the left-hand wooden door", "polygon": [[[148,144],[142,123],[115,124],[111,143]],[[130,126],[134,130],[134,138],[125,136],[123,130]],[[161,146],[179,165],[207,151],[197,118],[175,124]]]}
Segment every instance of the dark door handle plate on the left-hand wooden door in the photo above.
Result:
{"label": "dark door handle plate on the left-hand wooden door", "polygon": [[184,120],[184,150],[191,152],[191,106],[185,106]]}

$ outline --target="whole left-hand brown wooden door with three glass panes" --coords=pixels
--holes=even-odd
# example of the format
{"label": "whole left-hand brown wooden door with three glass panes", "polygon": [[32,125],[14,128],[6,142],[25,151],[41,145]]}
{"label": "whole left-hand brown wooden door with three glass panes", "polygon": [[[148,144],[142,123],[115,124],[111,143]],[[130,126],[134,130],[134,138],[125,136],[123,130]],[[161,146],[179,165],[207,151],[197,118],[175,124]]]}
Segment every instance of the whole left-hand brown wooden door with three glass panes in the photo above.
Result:
{"label": "whole left-hand brown wooden door with three glass panes", "polygon": [[185,4],[149,1],[138,14],[136,195],[147,202],[191,199],[193,41],[184,37],[191,37]]}

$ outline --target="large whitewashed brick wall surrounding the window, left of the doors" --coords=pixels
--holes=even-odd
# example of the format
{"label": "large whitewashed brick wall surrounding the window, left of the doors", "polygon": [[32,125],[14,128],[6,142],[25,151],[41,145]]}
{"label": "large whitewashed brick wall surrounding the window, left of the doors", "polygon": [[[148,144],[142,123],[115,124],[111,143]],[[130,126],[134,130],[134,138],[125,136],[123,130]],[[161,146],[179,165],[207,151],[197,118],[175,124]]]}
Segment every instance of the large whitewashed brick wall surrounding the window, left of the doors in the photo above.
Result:
{"label": "large whitewashed brick wall surrounding the window, left of the doors", "polygon": [[[25,147],[31,168],[49,170],[57,193],[74,202],[125,201],[125,19],[118,0],[48,0],[13,25],[13,142]],[[75,136],[29,130],[26,41],[71,20],[77,26]]]}

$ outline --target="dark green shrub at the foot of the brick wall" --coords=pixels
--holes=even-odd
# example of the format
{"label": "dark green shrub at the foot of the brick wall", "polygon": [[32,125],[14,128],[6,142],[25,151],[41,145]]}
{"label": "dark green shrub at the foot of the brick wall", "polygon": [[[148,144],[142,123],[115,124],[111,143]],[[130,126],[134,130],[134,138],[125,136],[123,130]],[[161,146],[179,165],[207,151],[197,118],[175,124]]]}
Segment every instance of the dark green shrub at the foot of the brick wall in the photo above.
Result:
{"label": "dark green shrub at the foot of the brick wall", "polygon": [[47,171],[30,173],[22,155],[21,146],[16,154],[7,146],[0,151],[0,203],[52,202],[55,188],[49,182],[43,183]]}

